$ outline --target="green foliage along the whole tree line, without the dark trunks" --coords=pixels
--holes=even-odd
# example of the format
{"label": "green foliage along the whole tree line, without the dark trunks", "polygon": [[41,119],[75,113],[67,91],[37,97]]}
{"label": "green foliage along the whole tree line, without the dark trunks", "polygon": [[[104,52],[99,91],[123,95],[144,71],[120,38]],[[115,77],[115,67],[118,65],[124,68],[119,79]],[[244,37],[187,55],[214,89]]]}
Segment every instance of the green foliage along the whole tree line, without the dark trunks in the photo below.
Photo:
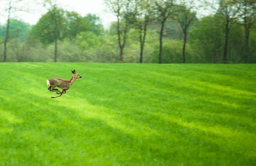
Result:
{"label": "green foliage along the whole tree line, without the dark trunks", "polygon": [[[118,7],[116,0],[107,1],[114,5],[112,7]],[[123,62],[139,62],[140,40],[138,32],[143,27],[143,24],[147,22],[143,62],[158,63],[159,30],[161,24],[156,18],[156,15],[159,13],[153,12],[154,7],[156,7],[153,1],[139,1],[137,10],[131,8],[138,2],[137,0],[131,0],[129,4],[125,0],[119,1],[120,5],[122,5],[119,25],[121,44],[123,44],[123,37],[126,37]],[[182,1],[187,2],[185,0]],[[180,11],[176,15],[172,15],[172,18],[168,17],[163,27],[163,63],[182,63],[182,40],[184,34],[178,21],[186,23],[186,14],[187,18],[191,18],[195,16],[195,13],[191,12],[191,8],[188,8],[189,5],[186,5],[187,8],[185,6],[179,6],[179,8],[175,6],[176,8],[174,8],[173,1],[159,0],[158,2],[158,12],[161,9],[167,8],[170,13],[174,9],[179,9]],[[126,3],[129,5],[127,11],[125,11]],[[169,6],[167,7],[167,5]],[[137,17],[134,17],[134,15],[137,15]],[[125,16],[128,18],[123,18]],[[180,19],[177,21],[174,18]],[[193,25],[189,25],[186,63],[223,63],[225,21],[222,18],[223,16],[220,14],[200,19],[195,18]],[[129,24],[127,24],[128,22]],[[130,25],[131,23],[133,25]],[[228,63],[245,62],[246,42],[243,25],[242,19],[232,20],[229,24]],[[127,26],[128,28],[125,28]],[[248,63],[256,62],[255,26],[252,25],[250,29]],[[29,24],[21,20],[10,19],[7,61],[52,62],[55,38],[57,38],[58,60],[60,62],[120,61],[120,55],[118,56],[120,47],[118,47],[117,22],[113,22],[110,28],[105,30],[100,18],[96,15],[88,14],[81,16],[77,12],[66,11],[53,6],[52,9],[39,19],[36,25],[30,28]],[[55,34],[55,31],[57,34]],[[5,33],[6,25],[0,25],[1,44],[4,42]],[[0,47],[0,53],[2,52],[3,48]],[[2,59],[2,54],[0,54],[0,61]]]}

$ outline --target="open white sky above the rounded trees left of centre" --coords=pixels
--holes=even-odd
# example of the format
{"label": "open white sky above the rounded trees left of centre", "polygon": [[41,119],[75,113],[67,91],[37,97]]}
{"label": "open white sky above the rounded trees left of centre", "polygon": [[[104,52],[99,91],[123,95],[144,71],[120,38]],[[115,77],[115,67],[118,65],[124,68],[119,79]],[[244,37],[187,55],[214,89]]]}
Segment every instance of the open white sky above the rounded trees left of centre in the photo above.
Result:
{"label": "open white sky above the rounded trees left of centre", "polygon": [[[0,0],[1,2],[8,2],[9,0]],[[35,2],[35,0],[27,0],[28,2]],[[40,1],[40,0],[39,0]],[[59,7],[69,10],[76,11],[80,15],[85,16],[88,13],[96,14],[101,18],[101,22],[105,28],[108,28],[112,21],[116,18],[113,14],[107,11],[107,7],[104,0],[56,0]],[[30,3],[31,4],[31,3]],[[31,25],[36,24],[42,14],[47,12],[42,5],[32,5],[33,9],[31,12],[16,12],[15,18],[20,18],[24,22],[30,23]],[[0,10],[0,24],[6,23],[6,16],[3,10]]]}

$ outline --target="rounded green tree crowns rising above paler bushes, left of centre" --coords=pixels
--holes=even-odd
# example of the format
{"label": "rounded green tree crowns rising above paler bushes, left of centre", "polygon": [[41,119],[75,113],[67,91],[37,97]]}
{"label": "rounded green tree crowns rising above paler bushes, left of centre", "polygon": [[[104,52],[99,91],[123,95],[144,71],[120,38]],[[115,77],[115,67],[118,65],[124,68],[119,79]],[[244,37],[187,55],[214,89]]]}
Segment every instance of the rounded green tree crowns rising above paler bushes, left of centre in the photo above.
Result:
{"label": "rounded green tree crowns rising above paler bushes, left of centre", "polygon": [[54,8],[39,19],[31,30],[31,36],[35,39],[38,38],[44,44],[53,43],[55,41],[55,23],[57,23],[56,30],[59,40],[64,38],[73,40],[81,32],[93,32],[96,35],[102,35],[104,32],[99,18],[95,15],[88,14],[86,17],[82,17],[74,11]]}

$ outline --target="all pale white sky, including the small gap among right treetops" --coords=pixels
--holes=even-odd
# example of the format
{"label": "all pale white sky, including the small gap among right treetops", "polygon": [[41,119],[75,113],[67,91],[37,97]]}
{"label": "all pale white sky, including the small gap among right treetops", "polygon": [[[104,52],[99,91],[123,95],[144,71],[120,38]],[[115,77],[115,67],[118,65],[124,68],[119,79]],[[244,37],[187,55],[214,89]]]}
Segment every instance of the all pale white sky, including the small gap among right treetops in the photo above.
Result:
{"label": "all pale white sky, including the small gap among right treetops", "polygon": [[[5,24],[7,20],[7,12],[3,9],[8,7],[10,0],[0,0],[0,24]],[[15,1],[15,0],[12,0]],[[85,16],[88,13],[96,14],[105,28],[109,28],[111,22],[116,21],[116,17],[110,13],[104,0],[52,0],[56,1],[57,5],[65,10],[76,11],[81,16]],[[15,12],[12,18],[18,18],[24,22],[34,25],[37,23],[42,14],[47,12],[47,9],[40,3],[42,0],[22,0],[21,3],[16,3],[14,6],[23,6],[28,8],[30,12]],[[200,11],[200,12],[199,12]],[[198,16],[208,15],[209,11],[200,9],[197,10]]]}

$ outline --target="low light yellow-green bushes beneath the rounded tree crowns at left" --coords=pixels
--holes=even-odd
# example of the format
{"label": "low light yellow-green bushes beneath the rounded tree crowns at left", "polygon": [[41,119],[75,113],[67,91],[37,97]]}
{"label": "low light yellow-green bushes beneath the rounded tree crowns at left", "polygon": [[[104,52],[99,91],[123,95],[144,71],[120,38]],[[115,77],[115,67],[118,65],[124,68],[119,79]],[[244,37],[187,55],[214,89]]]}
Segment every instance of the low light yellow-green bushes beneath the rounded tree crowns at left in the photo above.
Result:
{"label": "low light yellow-green bushes beneath the rounded tree crowns at left", "polygon": [[[58,41],[59,62],[117,62],[115,37],[102,37],[101,40],[92,32],[82,32],[74,40],[68,38]],[[47,46],[35,41],[27,41],[27,54],[30,61],[53,62],[54,43]],[[31,44],[31,45],[30,45]],[[25,54],[25,53],[24,53]],[[27,55],[25,54],[25,55]],[[15,60],[16,61],[16,60]]]}

